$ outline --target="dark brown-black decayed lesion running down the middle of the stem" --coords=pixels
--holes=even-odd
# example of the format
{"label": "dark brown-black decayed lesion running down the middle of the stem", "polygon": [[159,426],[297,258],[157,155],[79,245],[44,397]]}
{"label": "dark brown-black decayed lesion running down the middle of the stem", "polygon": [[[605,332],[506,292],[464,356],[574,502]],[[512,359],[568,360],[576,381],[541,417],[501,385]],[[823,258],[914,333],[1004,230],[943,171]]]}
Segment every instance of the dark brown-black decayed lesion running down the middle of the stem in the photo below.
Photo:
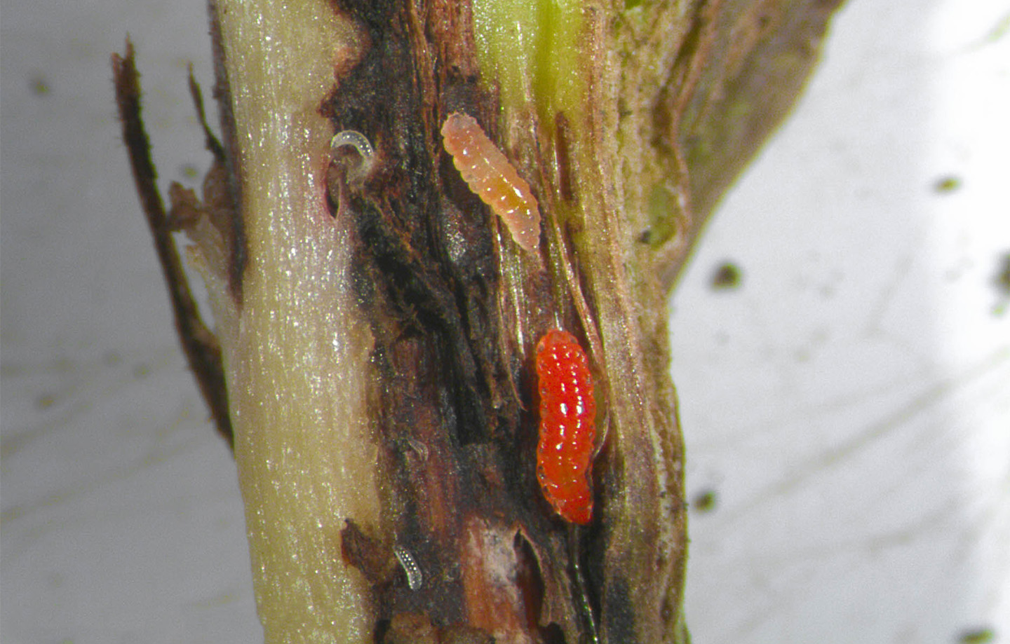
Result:
{"label": "dark brown-black decayed lesion running down the middle of the stem", "polygon": [[[393,484],[385,505],[424,576],[422,592],[402,578],[374,583],[388,629],[379,639],[465,628],[474,641],[542,641],[560,624],[576,641],[578,616],[560,599],[572,597],[564,564],[541,568],[566,550],[529,458],[527,351],[498,307],[501,240],[438,134],[453,110],[492,113],[476,64],[453,58],[465,51],[450,43],[470,25],[418,6],[342,8],[384,29],[369,32],[371,47],[324,110],[335,130],[370,136],[376,152],[366,177],[354,176],[352,160],[332,166],[329,195],[334,216],[352,223],[358,299],[376,338],[376,416]],[[441,39],[422,46],[425,24]],[[539,281],[531,306],[549,309],[545,277],[530,272]]]}

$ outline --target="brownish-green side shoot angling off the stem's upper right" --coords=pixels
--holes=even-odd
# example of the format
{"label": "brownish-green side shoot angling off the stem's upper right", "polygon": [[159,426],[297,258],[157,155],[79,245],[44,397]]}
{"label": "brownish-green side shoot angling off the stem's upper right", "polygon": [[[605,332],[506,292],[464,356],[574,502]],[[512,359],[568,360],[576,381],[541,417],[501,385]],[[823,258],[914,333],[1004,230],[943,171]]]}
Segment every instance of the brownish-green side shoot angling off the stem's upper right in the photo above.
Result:
{"label": "brownish-green side shoot angling off the stem's upper right", "polygon": [[655,206],[671,212],[655,213],[659,225],[647,228],[656,233],[649,244],[664,288],[676,284],[718,200],[789,114],[842,2],[702,0],[673,65],[662,78],[643,74],[655,84],[643,116],[656,162],[665,183],[676,184],[670,191],[659,178],[645,182]]}

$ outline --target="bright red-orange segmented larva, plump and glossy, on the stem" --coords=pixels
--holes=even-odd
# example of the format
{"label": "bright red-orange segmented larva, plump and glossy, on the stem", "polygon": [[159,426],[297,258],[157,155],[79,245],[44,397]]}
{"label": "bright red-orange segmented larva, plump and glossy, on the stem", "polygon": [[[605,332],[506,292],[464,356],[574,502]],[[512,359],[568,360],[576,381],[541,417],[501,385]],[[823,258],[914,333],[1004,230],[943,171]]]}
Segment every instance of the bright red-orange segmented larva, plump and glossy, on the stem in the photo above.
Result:
{"label": "bright red-orange segmented larva, plump and glossy, on the stem", "polygon": [[596,438],[589,359],[575,336],[551,329],[537,343],[535,361],[540,390],[536,477],[554,512],[566,521],[587,524],[593,517]]}

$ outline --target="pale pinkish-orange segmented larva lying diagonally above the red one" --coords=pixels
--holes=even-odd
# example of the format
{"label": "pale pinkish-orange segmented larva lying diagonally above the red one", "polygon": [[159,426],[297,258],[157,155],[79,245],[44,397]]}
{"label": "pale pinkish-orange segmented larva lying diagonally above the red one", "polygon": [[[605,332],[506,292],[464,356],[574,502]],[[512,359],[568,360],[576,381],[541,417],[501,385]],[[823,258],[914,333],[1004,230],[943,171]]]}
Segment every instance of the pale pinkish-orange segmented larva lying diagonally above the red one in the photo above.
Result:
{"label": "pale pinkish-orange segmented larva lying diagonally above the red one", "polygon": [[540,244],[540,211],[527,184],[472,117],[452,112],[442,125],[442,144],[470,189],[491,206],[520,246]]}

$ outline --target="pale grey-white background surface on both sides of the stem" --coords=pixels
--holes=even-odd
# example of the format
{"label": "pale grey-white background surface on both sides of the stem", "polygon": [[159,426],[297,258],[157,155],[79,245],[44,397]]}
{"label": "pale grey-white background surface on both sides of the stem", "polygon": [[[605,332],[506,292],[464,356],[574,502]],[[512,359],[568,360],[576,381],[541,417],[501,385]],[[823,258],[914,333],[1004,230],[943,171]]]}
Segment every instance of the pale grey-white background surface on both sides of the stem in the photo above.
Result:
{"label": "pale grey-white background surface on both sides of the stem", "polygon": [[[671,306],[698,643],[1010,642],[1010,6],[852,0]],[[202,0],[4,0],[4,644],[257,642],[234,464],[119,141],[208,163]],[[957,178],[951,191],[936,189]],[[723,261],[736,289],[714,290]]]}

